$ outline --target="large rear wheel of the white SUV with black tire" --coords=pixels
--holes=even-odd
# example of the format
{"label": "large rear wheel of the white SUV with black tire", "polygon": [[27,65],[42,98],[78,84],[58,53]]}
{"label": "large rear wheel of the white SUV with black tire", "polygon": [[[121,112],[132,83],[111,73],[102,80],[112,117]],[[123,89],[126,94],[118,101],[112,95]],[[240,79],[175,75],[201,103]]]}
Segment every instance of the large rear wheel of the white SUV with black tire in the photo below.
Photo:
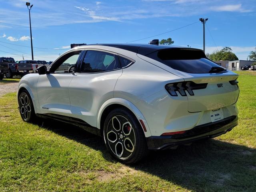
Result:
{"label": "large rear wheel of the white SUV with black tire", "polygon": [[124,164],[136,163],[148,153],[140,123],[134,114],[125,108],[116,108],[108,114],[103,132],[108,151]]}

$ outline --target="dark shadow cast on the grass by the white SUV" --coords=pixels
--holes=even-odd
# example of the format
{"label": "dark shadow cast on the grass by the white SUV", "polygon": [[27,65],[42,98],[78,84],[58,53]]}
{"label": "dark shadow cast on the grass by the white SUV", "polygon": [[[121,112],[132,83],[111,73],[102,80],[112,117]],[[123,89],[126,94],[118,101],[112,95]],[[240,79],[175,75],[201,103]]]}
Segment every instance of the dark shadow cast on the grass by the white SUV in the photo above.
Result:
{"label": "dark shadow cast on the grass by the white SUV", "polygon": [[[106,160],[116,162],[99,136],[54,120],[43,120],[38,125],[100,150]],[[211,139],[176,150],[151,151],[144,160],[129,167],[193,191],[254,191],[255,158],[253,148]]]}

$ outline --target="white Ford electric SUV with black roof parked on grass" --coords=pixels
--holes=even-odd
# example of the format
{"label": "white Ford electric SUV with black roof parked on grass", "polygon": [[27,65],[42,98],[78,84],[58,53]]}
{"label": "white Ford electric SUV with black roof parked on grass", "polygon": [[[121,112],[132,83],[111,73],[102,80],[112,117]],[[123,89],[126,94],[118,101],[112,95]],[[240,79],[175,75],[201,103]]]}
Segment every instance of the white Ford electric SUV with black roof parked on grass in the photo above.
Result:
{"label": "white Ford electric SUV with black roof parked on grass", "polygon": [[103,136],[110,154],[134,163],[238,124],[238,75],[202,50],[94,44],[62,54],[19,83],[22,119],[53,118]]}

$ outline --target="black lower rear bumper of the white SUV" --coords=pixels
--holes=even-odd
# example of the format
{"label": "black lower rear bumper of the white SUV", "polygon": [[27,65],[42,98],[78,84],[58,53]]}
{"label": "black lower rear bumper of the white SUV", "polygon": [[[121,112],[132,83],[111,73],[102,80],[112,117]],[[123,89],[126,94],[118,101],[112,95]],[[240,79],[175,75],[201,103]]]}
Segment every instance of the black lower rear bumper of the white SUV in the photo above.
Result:
{"label": "black lower rear bumper of the white SUV", "polygon": [[172,136],[150,136],[146,138],[150,150],[162,150],[178,145],[188,144],[200,139],[214,138],[232,130],[238,124],[238,116],[196,126],[184,134]]}

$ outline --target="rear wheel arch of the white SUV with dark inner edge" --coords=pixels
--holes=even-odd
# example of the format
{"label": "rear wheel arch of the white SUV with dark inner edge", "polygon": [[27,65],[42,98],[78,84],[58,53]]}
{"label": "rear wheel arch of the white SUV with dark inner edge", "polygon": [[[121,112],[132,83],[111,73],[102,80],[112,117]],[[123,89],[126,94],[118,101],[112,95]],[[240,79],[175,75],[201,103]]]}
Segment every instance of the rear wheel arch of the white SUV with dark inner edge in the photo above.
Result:
{"label": "rear wheel arch of the white SUV with dark inner edge", "polygon": [[132,114],[134,114],[134,116],[137,118],[138,122],[140,123],[141,128],[143,129],[142,123],[140,122],[140,120],[142,120],[145,125],[145,128],[146,128],[146,132],[144,131],[145,137],[151,136],[150,129],[148,127],[148,124],[147,124],[146,119],[144,118],[143,114],[132,102],[130,102],[124,98],[111,98],[111,99],[107,100],[106,102],[104,102],[104,104],[102,104],[100,110],[98,111],[98,115],[97,115],[97,128],[100,129],[100,133],[102,135],[103,135],[104,120],[105,120],[106,116],[108,115],[108,112],[110,112],[111,110],[113,110],[115,108],[121,108],[121,107],[126,108],[127,110],[132,112]]}

